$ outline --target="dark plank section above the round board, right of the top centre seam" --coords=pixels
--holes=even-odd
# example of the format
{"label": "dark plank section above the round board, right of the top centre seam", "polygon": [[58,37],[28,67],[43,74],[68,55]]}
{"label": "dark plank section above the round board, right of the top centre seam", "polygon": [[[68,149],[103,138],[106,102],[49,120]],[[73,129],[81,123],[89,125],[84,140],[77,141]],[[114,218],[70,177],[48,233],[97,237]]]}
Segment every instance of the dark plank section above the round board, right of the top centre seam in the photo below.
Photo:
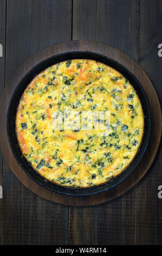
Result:
{"label": "dark plank section above the round board, right of the top centre seam", "polygon": [[138,61],[138,0],[73,0],[73,40],[95,40]]}

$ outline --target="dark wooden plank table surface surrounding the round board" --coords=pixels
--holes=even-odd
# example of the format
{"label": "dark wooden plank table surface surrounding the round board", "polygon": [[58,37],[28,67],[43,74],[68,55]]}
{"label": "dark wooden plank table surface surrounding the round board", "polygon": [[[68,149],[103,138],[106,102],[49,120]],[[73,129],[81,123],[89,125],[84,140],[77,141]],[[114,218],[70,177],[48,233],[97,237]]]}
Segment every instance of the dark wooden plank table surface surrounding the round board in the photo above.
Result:
{"label": "dark wooden plank table surface surrounding the round board", "polygon": [[[161,0],[1,0],[1,94],[18,66],[32,54],[60,41],[84,39],[104,42],[132,57],[151,78],[161,99],[161,5]],[[2,245],[162,242],[161,149],[132,190],[111,202],[83,208],[36,196],[18,181],[2,154],[0,163]]]}

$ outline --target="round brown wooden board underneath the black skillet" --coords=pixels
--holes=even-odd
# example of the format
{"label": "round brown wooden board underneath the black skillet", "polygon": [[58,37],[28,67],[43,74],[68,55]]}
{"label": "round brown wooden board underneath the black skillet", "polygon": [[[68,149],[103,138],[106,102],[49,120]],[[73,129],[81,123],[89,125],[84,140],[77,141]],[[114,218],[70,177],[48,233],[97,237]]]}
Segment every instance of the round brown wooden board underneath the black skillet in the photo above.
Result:
{"label": "round brown wooden board underneath the black skillet", "polygon": [[[38,185],[35,181],[29,178],[29,176],[21,169],[15,157],[11,151],[8,136],[7,136],[7,111],[11,96],[20,80],[26,73],[33,68],[36,64],[42,60],[58,54],[61,52],[67,51],[91,51],[101,53],[105,56],[108,56],[112,59],[115,59],[117,62],[125,66],[130,72],[132,72],[136,78],[138,78],[142,87],[145,90],[147,95],[149,105],[151,107],[152,115],[152,131],[151,139],[144,156],[144,159],[141,161],[139,166],[134,170],[134,172],[124,180],[120,185],[114,187],[112,190],[96,194],[94,196],[84,196],[84,197],[75,197],[75,196],[64,196],[62,194],[54,193],[47,190],[46,188]],[[68,41],[60,42],[45,48],[44,50],[36,53],[34,56],[30,57],[26,62],[24,62],[20,68],[15,72],[10,82],[8,83],[5,91],[2,95],[0,102],[0,116],[1,120],[1,131],[0,131],[0,145],[3,151],[5,160],[8,163],[8,166],[17,176],[17,178],[22,182],[23,185],[29,188],[30,191],[34,192],[38,196],[51,200],[55,203],[73,205],[73,206],[88,206],[96,205],[107,202],[111,199],[121,196],[123,193],[127,192],[132,188],[147,172],[148,168],[151,166],[154,157],[157,153],[158,146],[160,143],[161,137],[161,108],[157,93],[155,89],[145,74],[145,72],[140,68],[140,66],[134,62],[133,59],[129,58],[123,52],[110,47],[105,44],[101,44],[95,41]]]}

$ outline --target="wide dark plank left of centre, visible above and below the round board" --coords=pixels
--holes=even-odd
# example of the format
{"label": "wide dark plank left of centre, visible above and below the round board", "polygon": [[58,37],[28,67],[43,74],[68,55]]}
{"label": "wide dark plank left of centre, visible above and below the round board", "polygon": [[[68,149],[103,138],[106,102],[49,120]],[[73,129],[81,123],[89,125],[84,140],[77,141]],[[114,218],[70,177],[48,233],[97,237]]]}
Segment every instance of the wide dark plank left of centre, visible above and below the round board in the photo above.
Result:
{"label": "wide dark plank left of centre, visible above and below the round board", "polygon": [[[71,39],[71,0],[9,0],[6,82],[29,56]],[[68,206],[35,196],[4,163],[3,244],[66,244]]]}

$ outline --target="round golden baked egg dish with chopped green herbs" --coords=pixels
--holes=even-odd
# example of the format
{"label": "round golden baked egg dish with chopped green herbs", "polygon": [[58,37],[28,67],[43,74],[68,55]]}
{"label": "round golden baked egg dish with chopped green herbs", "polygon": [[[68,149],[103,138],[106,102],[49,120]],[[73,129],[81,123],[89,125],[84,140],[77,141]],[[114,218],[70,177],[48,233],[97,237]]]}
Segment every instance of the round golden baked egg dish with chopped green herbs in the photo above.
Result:
{"label": "round golden baked egg dish with chopped green herbs", "polygon": [[115,178],[133,161],[143,133],[133,86],[91,59],[66,60],[35,76],[16,113],[23,156],[61,186],[85,188]]}

